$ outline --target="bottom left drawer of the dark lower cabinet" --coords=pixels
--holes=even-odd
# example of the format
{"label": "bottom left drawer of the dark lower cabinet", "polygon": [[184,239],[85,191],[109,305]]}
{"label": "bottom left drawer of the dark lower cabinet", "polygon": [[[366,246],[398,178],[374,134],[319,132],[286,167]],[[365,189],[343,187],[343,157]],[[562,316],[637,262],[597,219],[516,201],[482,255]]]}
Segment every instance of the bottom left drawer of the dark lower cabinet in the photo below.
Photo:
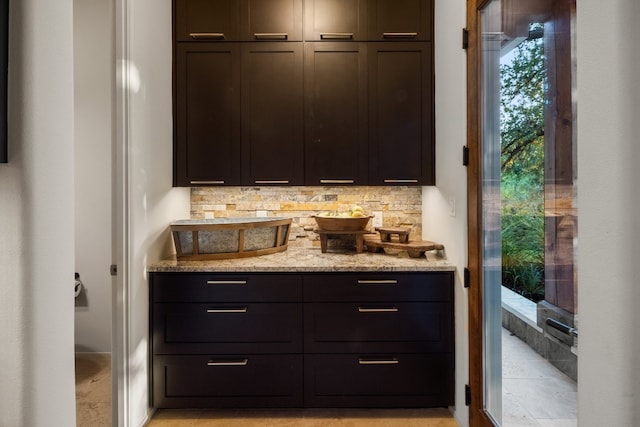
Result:
{"label": "bottom left drawer of the dark lower cabinet", "polygon": [[155,356],[153,403],[157,408],[302,406],[302,356]]}

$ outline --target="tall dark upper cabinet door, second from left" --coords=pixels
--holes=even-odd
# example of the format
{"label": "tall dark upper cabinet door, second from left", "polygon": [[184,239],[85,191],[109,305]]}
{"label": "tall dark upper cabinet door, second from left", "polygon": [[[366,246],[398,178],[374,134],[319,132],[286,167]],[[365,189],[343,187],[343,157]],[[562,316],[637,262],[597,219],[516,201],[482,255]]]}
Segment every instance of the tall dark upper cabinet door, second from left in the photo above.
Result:
{"label": "tall dark upper cabinet door, second from left", "polygon": [[243,184],[303,184],[302,69],[302,43],[243,45]]}

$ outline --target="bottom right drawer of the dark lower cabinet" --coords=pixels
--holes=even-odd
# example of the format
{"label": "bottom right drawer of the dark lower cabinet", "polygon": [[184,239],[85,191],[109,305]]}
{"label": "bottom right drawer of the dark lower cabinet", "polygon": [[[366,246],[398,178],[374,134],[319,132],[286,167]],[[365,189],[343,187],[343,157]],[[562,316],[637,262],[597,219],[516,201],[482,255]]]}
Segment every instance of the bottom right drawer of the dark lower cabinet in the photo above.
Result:
{"label": "bottom right drawer of the dark lower cabinet", "polygon": [[304,380],[310,407],[453,404],[451,354],[307,355]]}

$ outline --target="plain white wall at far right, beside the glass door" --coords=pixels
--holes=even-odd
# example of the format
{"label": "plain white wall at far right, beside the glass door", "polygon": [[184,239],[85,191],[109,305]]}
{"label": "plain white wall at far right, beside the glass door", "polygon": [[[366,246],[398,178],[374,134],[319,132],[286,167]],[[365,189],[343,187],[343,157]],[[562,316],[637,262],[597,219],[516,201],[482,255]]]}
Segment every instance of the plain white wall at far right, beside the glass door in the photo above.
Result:
{"label": "plain white wall at far right, beside the glass door", "polygon": [[578,422],[640,425],[640,3],[579,0]]}

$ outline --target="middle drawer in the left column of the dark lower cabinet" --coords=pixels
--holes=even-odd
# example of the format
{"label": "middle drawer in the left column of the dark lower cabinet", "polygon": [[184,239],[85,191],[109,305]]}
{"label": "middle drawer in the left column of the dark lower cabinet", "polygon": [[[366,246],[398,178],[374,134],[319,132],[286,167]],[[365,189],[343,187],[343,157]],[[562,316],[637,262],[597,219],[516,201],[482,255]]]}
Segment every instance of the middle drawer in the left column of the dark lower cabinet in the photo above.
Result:
{"label": "middle drawer in the left column of the dark lower cabinet", "polygon": [[154,304],[155,354],[299,353],[302,304]]}

